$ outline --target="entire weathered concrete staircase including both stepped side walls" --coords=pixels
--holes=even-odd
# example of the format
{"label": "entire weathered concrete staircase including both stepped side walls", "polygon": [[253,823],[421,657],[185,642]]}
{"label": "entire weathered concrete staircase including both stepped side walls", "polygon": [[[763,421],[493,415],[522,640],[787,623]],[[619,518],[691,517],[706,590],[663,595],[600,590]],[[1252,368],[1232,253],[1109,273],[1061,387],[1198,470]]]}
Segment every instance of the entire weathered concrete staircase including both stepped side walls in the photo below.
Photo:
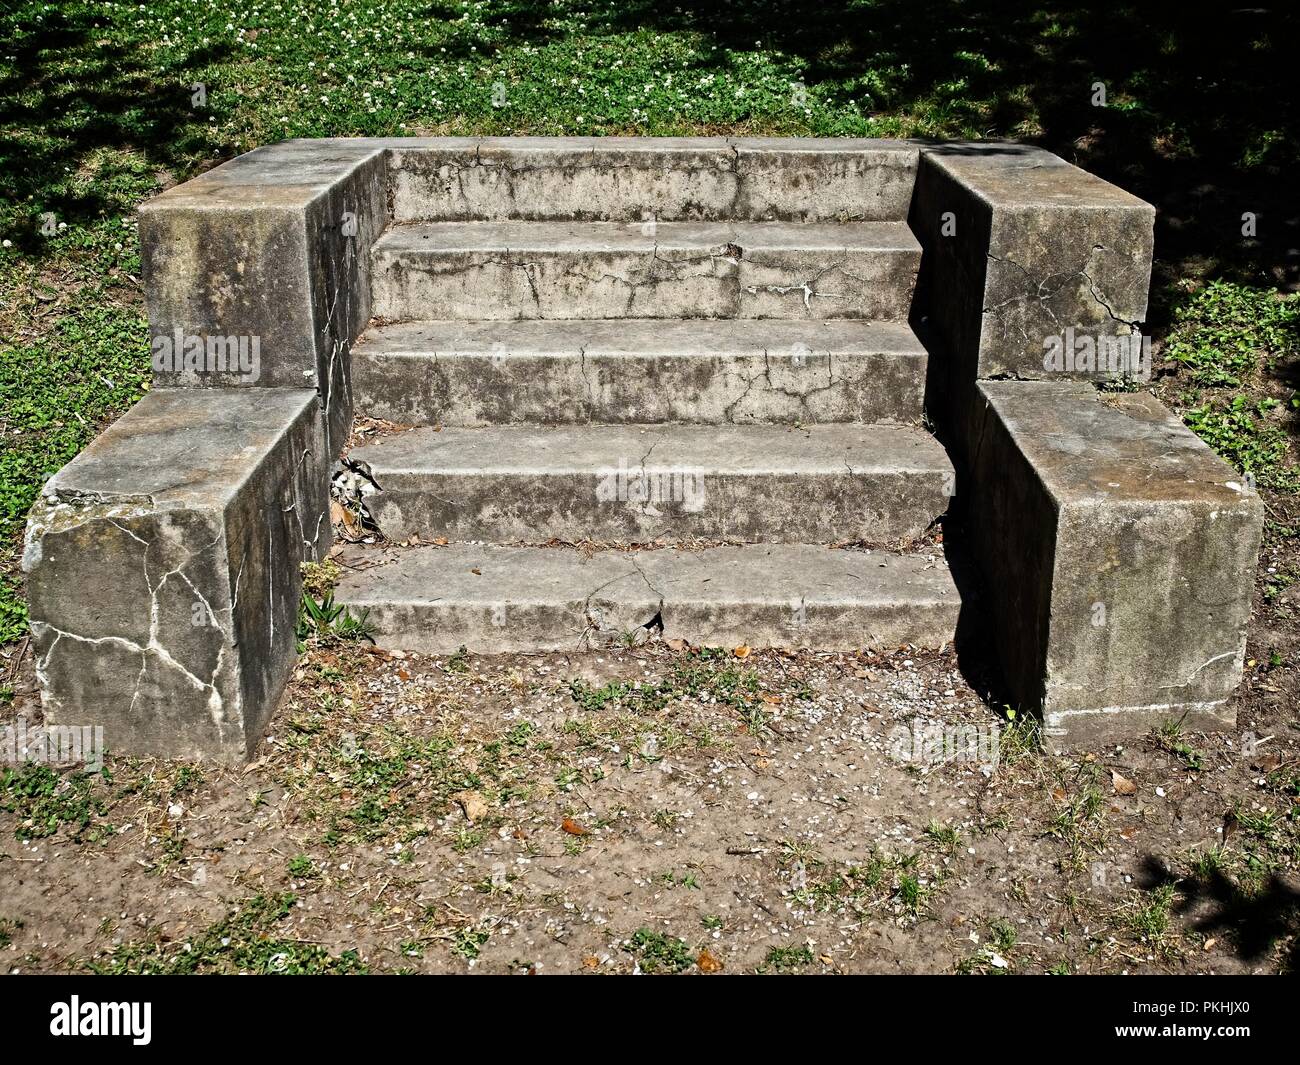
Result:
{"label": "entire weathered concrete staircase including both stepped side walls", "polygon": [[153,388],[29,516],[46,722],[251,757],[333,489],[384,534],[335,598],[391,648],[926,648],[961,614],[1052,746],[1231,727],[1262,502],[1097,389],[1149,373],[1113,356],[1153,221],[996,142],[230,160],[140,209]]}

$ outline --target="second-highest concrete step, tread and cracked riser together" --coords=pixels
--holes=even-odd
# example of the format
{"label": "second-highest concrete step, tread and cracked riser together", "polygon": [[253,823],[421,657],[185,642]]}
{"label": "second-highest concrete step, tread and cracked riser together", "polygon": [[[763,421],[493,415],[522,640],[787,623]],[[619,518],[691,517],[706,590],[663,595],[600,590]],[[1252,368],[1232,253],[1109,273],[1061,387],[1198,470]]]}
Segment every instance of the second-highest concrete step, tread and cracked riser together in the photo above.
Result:
{"label": "second-highest concrete step, tread and cracked riser together", "polygon": [[372,250],[372,312],[412,319],[905,319],[905,222],[429,222]]}

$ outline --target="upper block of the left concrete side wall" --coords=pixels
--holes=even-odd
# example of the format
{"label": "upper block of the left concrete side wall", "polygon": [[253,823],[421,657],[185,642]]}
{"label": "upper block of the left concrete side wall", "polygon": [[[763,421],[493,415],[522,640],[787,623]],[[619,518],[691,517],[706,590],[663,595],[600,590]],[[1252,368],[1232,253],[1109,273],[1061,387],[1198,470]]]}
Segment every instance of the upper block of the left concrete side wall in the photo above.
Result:
{"label": "upper block of the left concrete side wall", "polygon": [[387,224],[384,156],[377,140],[286,140],[140,208],[157,385],[315,388],[343,446],[347,356]]}

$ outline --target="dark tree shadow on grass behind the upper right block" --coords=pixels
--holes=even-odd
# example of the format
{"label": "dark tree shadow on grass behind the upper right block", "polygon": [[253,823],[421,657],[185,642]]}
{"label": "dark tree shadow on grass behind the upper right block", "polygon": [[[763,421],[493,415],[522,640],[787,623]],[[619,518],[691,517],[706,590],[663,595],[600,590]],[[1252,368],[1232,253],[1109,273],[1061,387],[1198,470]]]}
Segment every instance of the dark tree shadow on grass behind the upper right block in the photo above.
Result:
{"label": "dark tree shadow on grass behind the upper right block", "polygon": [[810,91],[866,96],[936,135],[1040,143],[1161,208],[1157,248],[1176,272],[1300,285],[1294,7],[632,0],[615,25],[785,52]]}

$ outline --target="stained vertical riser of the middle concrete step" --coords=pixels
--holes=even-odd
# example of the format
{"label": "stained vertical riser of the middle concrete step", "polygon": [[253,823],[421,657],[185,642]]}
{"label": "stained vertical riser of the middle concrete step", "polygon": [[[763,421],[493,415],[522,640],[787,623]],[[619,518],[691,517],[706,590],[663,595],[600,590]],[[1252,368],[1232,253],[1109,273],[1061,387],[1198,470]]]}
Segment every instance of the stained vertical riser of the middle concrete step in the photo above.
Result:
{"label": "stained vertical riser of the middle concrete step", "polygon": [[926,355],[352,352],[359,411],[406,425],[920,419]]}

